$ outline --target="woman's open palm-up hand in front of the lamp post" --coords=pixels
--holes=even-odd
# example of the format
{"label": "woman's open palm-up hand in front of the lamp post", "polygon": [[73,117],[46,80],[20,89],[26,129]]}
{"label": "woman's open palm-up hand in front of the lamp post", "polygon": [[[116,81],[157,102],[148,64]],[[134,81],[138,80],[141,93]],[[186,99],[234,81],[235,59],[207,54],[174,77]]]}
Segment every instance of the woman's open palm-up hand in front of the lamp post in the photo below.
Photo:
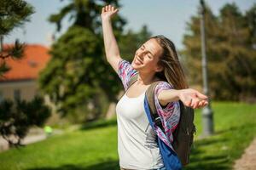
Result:
{"label": "woman's open palm-up hand in front of the lamp post", "polygon": [[188,107],[192,107],[193,109],[199,109],[208,105],[207,96],[201,94],[195,89],[187,88],[179,91],[179,99],[183,102],[184,105]]}

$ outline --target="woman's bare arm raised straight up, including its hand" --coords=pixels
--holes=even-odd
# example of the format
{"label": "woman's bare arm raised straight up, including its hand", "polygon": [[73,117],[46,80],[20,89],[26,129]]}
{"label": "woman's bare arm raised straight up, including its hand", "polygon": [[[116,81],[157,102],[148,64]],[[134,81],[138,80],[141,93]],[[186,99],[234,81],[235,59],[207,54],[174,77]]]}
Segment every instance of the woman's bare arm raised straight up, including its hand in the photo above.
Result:
{"label": "woman's bare arm raised straight up, including its hand", "polygon": [[111,25],[111,18],[117,14],[118,9],[111,5],[102,8],[102,31],[105,46],[105,53],[108,63],[113,67],[113,70],[118,73],[118,65],[121,60],[119,54],[119,47],[113,35],[113,28]]}

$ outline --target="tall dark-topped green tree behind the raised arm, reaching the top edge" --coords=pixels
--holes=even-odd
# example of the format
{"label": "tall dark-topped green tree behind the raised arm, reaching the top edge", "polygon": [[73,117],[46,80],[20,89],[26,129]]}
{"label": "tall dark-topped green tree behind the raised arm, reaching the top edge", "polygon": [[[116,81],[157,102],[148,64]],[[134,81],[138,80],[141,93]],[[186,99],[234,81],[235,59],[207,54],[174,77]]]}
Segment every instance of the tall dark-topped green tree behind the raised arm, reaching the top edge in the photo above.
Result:
{"label": "tall dark-topped green tree behind the raised arm, reaching the top edge", "polygon": [[[72,23],[53,44],[50,50],[52,58],[39,79],[40,88],[49,95],[62,116],[84,113],[83,119],[95,120],[104,116],[102,111],[108,109],[110,102],[117,101],[121,83],[117,83],[119,77],[103,52],[100,14],[107,3],[119,7],[116,0],[77,0],[49,17],[57,31],[61,30],[63,18],[70,17]],[[125,20],[120,15],[113,18],[113,30],[119,42],[125,40],[123,26]],[[131,35],[126,37],[131,38]],[[130,49],[124,47],[122,50],[131,54]]]}

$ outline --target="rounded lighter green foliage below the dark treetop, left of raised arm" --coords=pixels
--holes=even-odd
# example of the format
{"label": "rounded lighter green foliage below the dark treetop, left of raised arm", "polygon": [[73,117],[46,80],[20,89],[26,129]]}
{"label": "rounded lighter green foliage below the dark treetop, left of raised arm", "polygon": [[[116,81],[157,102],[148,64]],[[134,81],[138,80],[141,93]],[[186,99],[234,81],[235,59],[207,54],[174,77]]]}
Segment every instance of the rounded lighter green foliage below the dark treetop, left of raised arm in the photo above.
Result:
{"label": "rounded lighter green foliage below the dark treetop, left of raised arm", "polygon": [[99,57],[102,55],[99,39],[81,26],[70,27],[52,46],[50,54],[53,57],[39,82],[63,115],[95,98],[99,93],[99,77],[108,77],[111,71]]}

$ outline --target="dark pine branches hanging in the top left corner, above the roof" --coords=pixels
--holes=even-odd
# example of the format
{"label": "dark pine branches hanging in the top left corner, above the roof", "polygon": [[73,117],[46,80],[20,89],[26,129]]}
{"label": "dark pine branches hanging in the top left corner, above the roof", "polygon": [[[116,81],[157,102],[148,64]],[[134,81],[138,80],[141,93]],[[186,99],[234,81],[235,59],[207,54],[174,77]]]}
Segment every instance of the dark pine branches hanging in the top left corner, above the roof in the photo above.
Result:
{"label": "dark pine branches hanging in the top left corner, above the roof", "polygon": [[1,0],[0,1],[0,77],[9,71],[5,59],[12,57],[20,59],[23,55],[24,44],[19,40],[9,47],[3,48],[3,37],[9,35],[15,28],[23,26],[34,13],[32,6],[22,0]]}

